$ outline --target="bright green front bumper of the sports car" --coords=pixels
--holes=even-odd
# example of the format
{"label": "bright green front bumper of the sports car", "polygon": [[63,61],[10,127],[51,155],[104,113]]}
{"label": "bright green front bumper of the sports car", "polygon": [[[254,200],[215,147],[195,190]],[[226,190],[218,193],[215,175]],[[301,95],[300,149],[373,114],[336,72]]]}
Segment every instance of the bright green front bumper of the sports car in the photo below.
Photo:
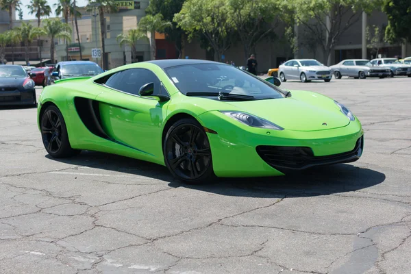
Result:
{"label": "bright green front bumper of the sports car", "polygon": [[[305,162],[300,163],[297,169],[337,162],[353,162],[362,154],[363,130],[358,119],[336,129],[297,132],[238,125],[230,121],[231,118],[221,115],[216,112],[206,112],[199,116],[203,126],[217,132],[217,134],[207,135],[212,151],[214,173],[218,177],[267,177],[284,175],[286,171],[295,170],[290,169],[289,165],[273,164],[272,161],[262,157],[258,152],[262,146],[308,148],[312,154],[307,155],[308,158],[303,159]],[[360,147],[358,147],[358,140],[360,140]]]}

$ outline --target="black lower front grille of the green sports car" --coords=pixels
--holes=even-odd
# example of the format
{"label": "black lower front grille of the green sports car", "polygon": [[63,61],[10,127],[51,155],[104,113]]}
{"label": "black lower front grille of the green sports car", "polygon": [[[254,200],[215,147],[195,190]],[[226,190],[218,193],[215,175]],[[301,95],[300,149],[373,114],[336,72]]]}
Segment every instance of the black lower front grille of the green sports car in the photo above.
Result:
{"label": "black lower front grille of the green sports car", "polygon": [[275,169],[307,169],[323,164],[353,162],[360,158],[363,139],[359,138],[352,151],[326,156],[314,156],[310,147],[277,147],[261,145],[256,148],[258,155]]}

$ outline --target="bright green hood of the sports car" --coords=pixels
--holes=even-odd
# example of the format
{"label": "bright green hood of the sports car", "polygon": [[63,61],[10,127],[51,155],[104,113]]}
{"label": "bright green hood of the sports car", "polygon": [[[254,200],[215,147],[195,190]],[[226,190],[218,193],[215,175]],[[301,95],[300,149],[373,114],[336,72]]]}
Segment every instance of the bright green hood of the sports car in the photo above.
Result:
{"label": "bright green hood of the sports car", "polygon": [[[208,110],[240,111],[256,115],[284,129],[310,132],[345,127],[349,119],[333,99],[315,92],[292,90],[292,97],[256,101],[216,101],[197,98]],[[190,97],[193,98],[193,97]],[[203,101],[208,100],[208,101]],[[211,109],[210,109],[211,108]],[[323,125],[326,123],[327,125]]]}

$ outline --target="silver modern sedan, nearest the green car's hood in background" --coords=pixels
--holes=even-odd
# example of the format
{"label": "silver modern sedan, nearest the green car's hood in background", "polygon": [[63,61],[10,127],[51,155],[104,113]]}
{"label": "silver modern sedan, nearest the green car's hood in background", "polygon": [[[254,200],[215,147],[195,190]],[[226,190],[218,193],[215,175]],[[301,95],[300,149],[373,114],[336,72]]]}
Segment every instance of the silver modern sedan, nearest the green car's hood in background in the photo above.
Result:
{"label": "silver modern sedan, nearest the green car's hood in background", "polygon": [[282,82],[291,79],[300,79],[301,82],[312,80],[329,82],[332,77],[331,69],[314,59],[289,60],[278,67],[278,75]]}

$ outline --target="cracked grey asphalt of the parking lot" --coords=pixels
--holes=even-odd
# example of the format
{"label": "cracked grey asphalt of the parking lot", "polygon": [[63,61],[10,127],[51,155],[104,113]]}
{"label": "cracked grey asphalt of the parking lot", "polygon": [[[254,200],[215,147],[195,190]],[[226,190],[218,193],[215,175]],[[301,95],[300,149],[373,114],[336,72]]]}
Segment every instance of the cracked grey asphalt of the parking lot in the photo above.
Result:
{"label": "cracked grey asphalt of the parking lot", "polygon": [[188,186],[116,155],[52,159],[36,109],[0,108],[0,273],[411,273],[411,78],[282,86],[347,105],[362,158]]}

